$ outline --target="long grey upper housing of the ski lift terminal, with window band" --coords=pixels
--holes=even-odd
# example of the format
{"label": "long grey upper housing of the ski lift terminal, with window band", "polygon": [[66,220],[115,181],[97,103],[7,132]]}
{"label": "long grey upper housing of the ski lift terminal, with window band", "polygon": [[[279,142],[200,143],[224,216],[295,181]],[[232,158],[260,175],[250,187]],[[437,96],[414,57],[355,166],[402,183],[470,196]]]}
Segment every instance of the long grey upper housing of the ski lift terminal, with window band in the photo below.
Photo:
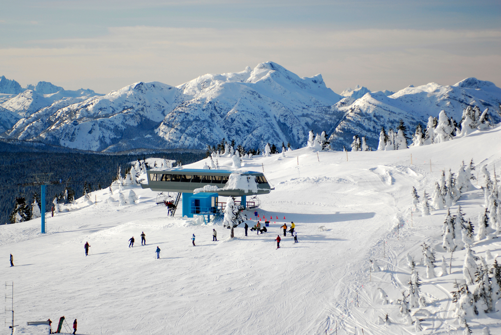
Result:
{"label": "long grey upper housing of the ski lift terminal, with window band", "polygon": [[[257,191],[252,189],[230,189],[226,187],[231,174],[237,173],[240,176],[256,177]],[[147,170],[148,184],[141,184],[142,188],[150,188],[153,191],[161,192],[182,192],[193,193],[195,189],[204,186],[215,186],[217,190],[207,189],[210,192],[217,192],[221,196],[246,196],[256,194],[267,194],[273,190],[262,172],[256,171],[232,171],[215,169],[184,169],[184,168],[152,168]],[[254,182],[254,181],[253,181]]]}

